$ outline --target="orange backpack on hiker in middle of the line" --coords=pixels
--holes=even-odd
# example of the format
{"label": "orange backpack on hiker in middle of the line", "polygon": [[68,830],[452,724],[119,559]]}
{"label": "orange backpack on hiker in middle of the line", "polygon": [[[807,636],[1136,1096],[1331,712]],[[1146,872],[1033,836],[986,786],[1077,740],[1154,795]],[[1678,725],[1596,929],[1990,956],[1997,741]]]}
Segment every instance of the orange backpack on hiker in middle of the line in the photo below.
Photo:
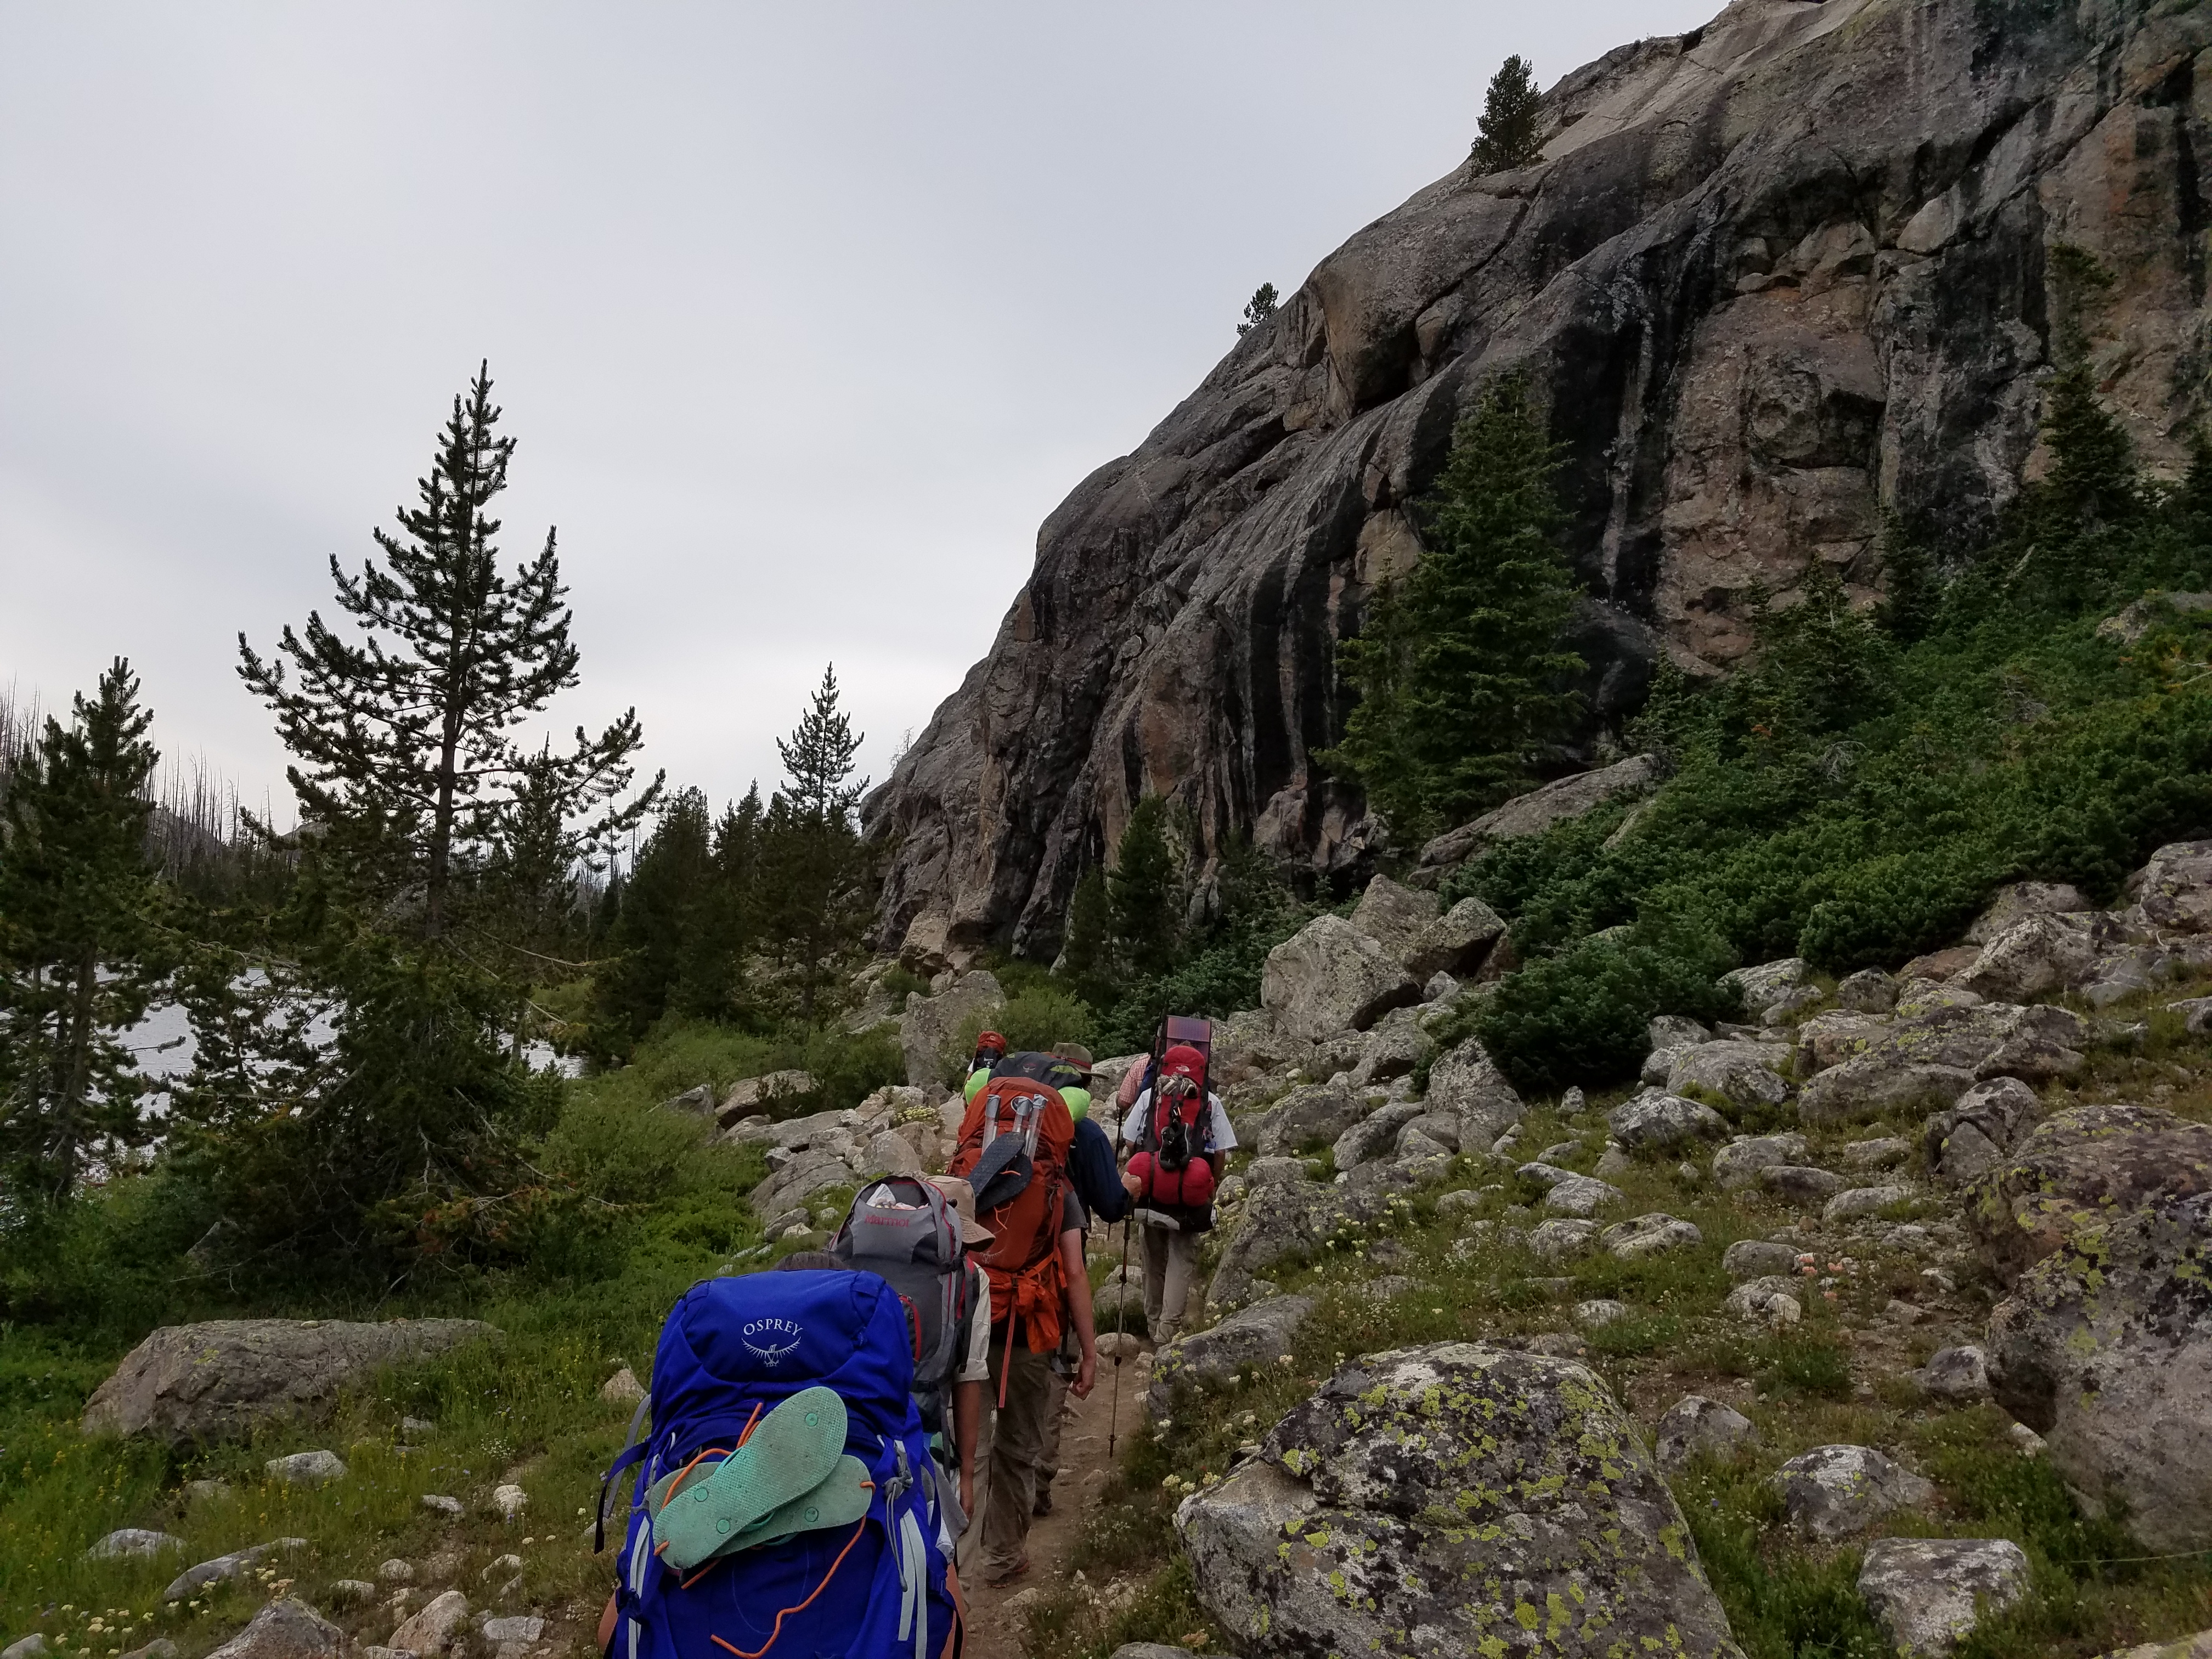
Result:
{"label": "orange backpack on hiker in middle of the line", "polygon": [[[1075,1119],[1060,1091],[1035,1077],[993,1077],[960,1119],[947,1175],[975,1188],[975,1219],[993,1232],[982,1254],[991,1321],[1020,1316],[1031,1354],[1060,1347],[1060,1221]],[[1013,1347],[1013,1332],[1006,1332]],[[1000,1378],[1004,1387],[1004,1376]]]}

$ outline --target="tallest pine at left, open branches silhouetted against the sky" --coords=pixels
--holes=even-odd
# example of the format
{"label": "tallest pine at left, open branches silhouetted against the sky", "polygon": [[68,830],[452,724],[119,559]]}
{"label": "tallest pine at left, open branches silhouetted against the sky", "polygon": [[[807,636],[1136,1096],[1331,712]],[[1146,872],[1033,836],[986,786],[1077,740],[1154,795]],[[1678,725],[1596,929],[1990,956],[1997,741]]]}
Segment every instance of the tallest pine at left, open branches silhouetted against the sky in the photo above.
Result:
{"label": "tallest pine at left, open branches silhouetted against the sky", "polygon": [[361,898],[414,911],[411,931],[440,938],[456,920],[456,883],[489,860],[524,790],[564,821],[593,818],[611,841],[639,823],[659,783],[611,807],[644,743],[628,710],[599,737],[533,757],[515,726],[577,684],[571,611],[555,535],[500,571],[489,515],[507,489],[515,440],[495,436],[489,369],[478,369],[438,440],[418,504],[398,533],[376,531],[383,562],[347,575],[330,560],[338,611],[358,644],[310,613],[305,635],[283,630],[274,657],[239,635],[239,677],[276,714],[303,818]]}

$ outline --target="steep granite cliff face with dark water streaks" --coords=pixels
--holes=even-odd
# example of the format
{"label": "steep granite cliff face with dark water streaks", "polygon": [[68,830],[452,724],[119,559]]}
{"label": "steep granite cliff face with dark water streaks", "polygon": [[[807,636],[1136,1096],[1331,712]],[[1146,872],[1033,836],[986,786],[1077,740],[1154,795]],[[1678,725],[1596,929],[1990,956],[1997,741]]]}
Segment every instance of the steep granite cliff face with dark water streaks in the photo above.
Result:
{"label": "steep granite cliff face with dark water streaks", "polygon": [[[1385,834],[1312,752],[1334,650],[1420,553],[1482,380],[1568,445],[1588,748],[1659,653],[1721,672],[1812,560],[1871,597],[1896,504],[1964,538],[2035,476],[2062,325],[2161,467],[2212,374],[2212,4],[1736,0],[1546,97],[1338,248],[1046,520],[991,655],[869,799],[883,942],[1048,953],[1144,794],[1314,869]],[[2068,294],[2075,246],[2115,276]]]}

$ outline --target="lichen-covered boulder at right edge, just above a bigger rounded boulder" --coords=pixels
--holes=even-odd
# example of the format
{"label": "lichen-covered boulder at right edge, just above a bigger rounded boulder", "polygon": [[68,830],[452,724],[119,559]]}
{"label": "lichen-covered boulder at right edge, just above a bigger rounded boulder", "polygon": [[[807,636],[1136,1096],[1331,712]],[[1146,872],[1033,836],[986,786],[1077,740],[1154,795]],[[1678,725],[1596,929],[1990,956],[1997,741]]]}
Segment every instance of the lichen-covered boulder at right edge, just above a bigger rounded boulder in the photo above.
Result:
{"label": "lichen-covered boulder at right edge, just above a bigger rounded boulder", "polygon": [[2004,1281],[2084,1223],[2212,1192],[2212,1124],[2157,1106],[2075,1106],[1969,1188],[1966,1228]]}

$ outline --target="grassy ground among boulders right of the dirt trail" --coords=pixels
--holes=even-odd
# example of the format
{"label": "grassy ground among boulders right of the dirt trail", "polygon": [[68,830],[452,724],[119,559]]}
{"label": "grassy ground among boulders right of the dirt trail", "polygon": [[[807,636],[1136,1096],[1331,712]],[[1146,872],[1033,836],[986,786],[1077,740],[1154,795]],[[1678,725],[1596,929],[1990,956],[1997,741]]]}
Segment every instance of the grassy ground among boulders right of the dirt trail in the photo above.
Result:
{"label": "grassy ground among boulders right of the dirt trail", "polygon": [[[2199,993],[2174,987],[2148,1002]],[[2097,1048],[2084,1077],[2051,1091],[2053,1108],[2139,1099],[2212,1121],[2212,1044],[2141,1006],[2124,1004],[2099,1018],[2143,1022],[2148,1031]],[[1520,1137],[1524,1157],[1577,1139],[1582,1150],[1566,1161],[1588,1170],[1604,1146],[1601,1115],[1626,1093],[1593,1097],[1573,1119],[1559,1117],[1555,1104],[1533,1110]],[[1918,1137],[1918,1119],[1893,1119],[1812,1133],[1809,1161],[1843,1168],[1843,1144]],[[1500,1241],[1502,1225],[1526,1228],[1540,1217],[1540,1192],[1504,1166],[1462,1159],[1453,1179],[1416,1194],[1396,1223],[1336,1241],[1296,1272],[1270,1274],[1285,1292],[1318,1298],[1296,1336],[1294,1363],[1261,1367],[1206,1394],[1179,1389],[1166,1431],[1133,1440],[1086,1526],[1077,1555],[1084,1582],[1064,1586],[1031,1617],[1035,1659],[1104,1659],[1121,1641],[1228,1650],[1223,1632],[1197,1606],[1175,1546],[1172,1513],[1183,1495],[1228,1473],[1347,1356],[1573,1332],[1573,1305],[1597,1296],[1628,1303],[1630,1316],[1584,1336],[1584,1358],[1646,1427],[1683,1394],[1721,1398],[1759,1427],[1759,1447],[1741,1460],[1708,1460],[1672,1482],[1750,1659],[1891,1652],[1856,1588],[1858,1546],[1801,1544],[1781,1524],[1770,1486],[1781,1462],[1836,1442],[1889,1449],[1936,1482],[1936,1504],[1891,1517],[1887,1531],[2011,1537],[2028,1553],[2031,1595],[1986,1621],[1960,1648],[1962,1659],[2077,1659],[2212,1628],[2212,1555],[2141,1559],[2124,1526],[2084,1515],[2042,1460],[2011,1444],[2004,1411],[1944,1407],[1898,1376],[1944,1343],[1980,1340],[2002,1294],[1980,1270],[1958,1274],[1955,1292],[1936,1294],[1922,1279],[1927,1254],[1823,1234],[1816,1210],[1686,1181],[1672,1159],[1641,1161],[1610,1179],[1628,1197],[1621,1214],[1683,1217],[1697,1223],[1703,1243],[1641,1263],[1610,1256],[1564,1267],[1540,1263]],[[1871,1186],[1891,1177],[1863,1179]],[[1482,1190],[1482,1203],[1438,1214],[1436,1197],[1467,1186]],[[1931,1197],[1891,1219],[1944,1223],[1955,1214],[1955,1201]],[[1475,1223],[1484,1221],[1502,1225],[1482,1237]],[[1816,1250],[1823,1270],[1845,1265],[1816,1274],[1801,1294],[1805,1318],[1792,1329],[1761,1332],[1725,1316],[1723,1250],[1792,1223],[1805,1230],[1801,1248]],[[1409,1276],[1416,1290],[1378,1303],[1363,1292],[1376,1274]],[[1929,1305],[1933,1318],[1913,1327],[1885,1321],[1891,1296]]]}

